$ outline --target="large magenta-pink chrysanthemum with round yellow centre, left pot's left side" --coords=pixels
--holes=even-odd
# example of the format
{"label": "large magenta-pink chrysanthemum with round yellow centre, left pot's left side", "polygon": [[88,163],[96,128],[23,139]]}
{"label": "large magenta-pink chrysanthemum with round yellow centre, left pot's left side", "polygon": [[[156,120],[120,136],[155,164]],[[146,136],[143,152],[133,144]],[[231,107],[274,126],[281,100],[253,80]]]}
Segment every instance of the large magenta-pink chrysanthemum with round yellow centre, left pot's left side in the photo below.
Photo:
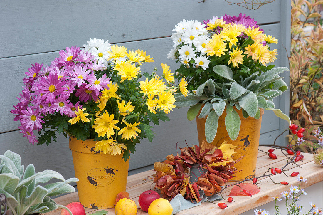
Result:
{"label": "large magenta-pink chrysanthemum with round yellow centre, left pot's left side", "polygon": [[42,100],[45,103],[53,102],[56,99],[56,96],[64,94],[64,91],[67,90],[64,86],[66,81],[58,80],[57,74],[49,74],[41,78],[37,87],[40,93],[43,93]]}

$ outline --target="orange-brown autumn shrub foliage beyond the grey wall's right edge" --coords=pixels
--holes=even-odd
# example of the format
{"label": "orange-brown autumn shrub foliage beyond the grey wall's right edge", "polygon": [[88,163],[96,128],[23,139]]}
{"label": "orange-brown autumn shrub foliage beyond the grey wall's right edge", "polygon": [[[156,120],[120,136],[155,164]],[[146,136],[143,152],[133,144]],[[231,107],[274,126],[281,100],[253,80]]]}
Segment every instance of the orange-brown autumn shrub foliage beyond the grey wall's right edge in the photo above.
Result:
{"label": "orange-brown autumn shrub foliage beyond the grey wall's right edge", "polygon": [[292,0],[290,63],[290,119],[306,128],[323,124],[322,0]]}

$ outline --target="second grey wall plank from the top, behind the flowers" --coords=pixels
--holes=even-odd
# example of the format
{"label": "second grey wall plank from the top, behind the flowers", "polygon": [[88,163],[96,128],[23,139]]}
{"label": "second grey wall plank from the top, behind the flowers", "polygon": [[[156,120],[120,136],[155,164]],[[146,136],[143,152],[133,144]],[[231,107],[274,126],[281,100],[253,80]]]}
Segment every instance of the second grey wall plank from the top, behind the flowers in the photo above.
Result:
{"label": "second grey wall plank from the top, behind the flowers", "polygon": [[[263,26],[265,31],[268,34],[275,35],[276,38],[279,38],[279,24],[265,25]],[[172,48],[172,40],[170,38],[157,38],[149,39],[142,41],[134,41],[121,43],[130,49],[144,49],[147,51],[147,54],[151,55],[155,59],[155,63],[146,63],[141,66],[141,71],[151,72],[154,67],[158,67],[157,74],[161,75],[161,63],[166,63],[171,66],[171,69],[175,71],[179,64],[174,60],[167,59],[167,53]],[[271,44],[272,48],[278,48],[278,44]],[[0,86],[2,89],[0,96],[0,114],[2,116],[2,123],[0,124],[0,133],[6,131],[16,130],[17,126],[20,125],[19,122],[13,122],[13,116],[9,112],[13,109],[12,105],[17,104],[18,100],[16,97],[21,93],[22,78],[24,73],[28,71],[28,68],[31,67],[31,64],[35,62],[43,63],[44,65],[50,64],[50,62],[58,56],[58,52],[49,52],[35,55],[26,55],[13,58],[4,58],[0,59],[0,68],[2,68],[2,76],[0,79]],[[279,66],[279,58],[276,60],[275,64]],[[279,103],[276,103],[276,106],[279,107]],[[274,117],[276,119],[276,117]],[[273,121],[271,121],[273,122]],[[276,123],[274,123],[276,124]],[[271,129],[272,130],[272,129]],[[262,130],[262,132],[267,132]]]}

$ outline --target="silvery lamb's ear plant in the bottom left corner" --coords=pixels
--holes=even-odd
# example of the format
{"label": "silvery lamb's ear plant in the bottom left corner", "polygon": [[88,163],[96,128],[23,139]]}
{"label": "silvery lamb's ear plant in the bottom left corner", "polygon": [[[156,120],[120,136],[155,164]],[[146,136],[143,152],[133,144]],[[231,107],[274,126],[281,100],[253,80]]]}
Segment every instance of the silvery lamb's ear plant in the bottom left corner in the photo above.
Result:
{"label": "silvery lamb's ear plant in the bottom left corner", "polygon": [[[50,197],[75,192],[75,188],[68,183],[78,181],[77,178],[65,180],[53,170],[36,173],[33,164],[25,169],[21,165],[21,157],[9,150],[0,155],[0,159],[0,193],[5,194],[7,207],[13,215],[47,213],[58,207],[68,210]],[[52,178],[59,182],[48,183]]]}

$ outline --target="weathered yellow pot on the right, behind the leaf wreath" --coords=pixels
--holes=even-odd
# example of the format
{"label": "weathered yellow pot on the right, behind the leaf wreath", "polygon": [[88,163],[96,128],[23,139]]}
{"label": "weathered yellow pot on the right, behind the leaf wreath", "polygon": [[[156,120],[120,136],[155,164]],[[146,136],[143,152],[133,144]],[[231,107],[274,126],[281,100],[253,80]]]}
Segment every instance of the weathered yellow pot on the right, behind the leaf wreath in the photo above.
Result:
{"label": "weathered yellow pot on the right, behind the leaf wreath", "polygon": [[[239,159],[241,156],[244,157],[239,162],[234,164],[234,167],[237,168],[239,172],[235,173],[234,176],[236,177],[232,178],[230,181],[241,181],[244,180],[246,177],[252,178],[255,176],[261,118],[264,114],[264,110],[260,109],[260,118],[255,119],[250,116],[248,118],[243,117],[242,109],[239,111],[235,107],[234,109],[237,111],[241,119],[241,126],[238,138],[236,140],[230,139],[229,134],[225,128],[224,119],[226,116],[226,111],[224,110],[223,114],[219,117],[218,130],[211,144],[220,146],[224,141],[228,141],[227,144],[237,146],[234,150],[235,153],[233,154],[232,158],[236,160]],[[200,146],[203,140],[206,142],[204,132],[205,121],[205,118],[199,119],[196,117],[197,133]]]}

